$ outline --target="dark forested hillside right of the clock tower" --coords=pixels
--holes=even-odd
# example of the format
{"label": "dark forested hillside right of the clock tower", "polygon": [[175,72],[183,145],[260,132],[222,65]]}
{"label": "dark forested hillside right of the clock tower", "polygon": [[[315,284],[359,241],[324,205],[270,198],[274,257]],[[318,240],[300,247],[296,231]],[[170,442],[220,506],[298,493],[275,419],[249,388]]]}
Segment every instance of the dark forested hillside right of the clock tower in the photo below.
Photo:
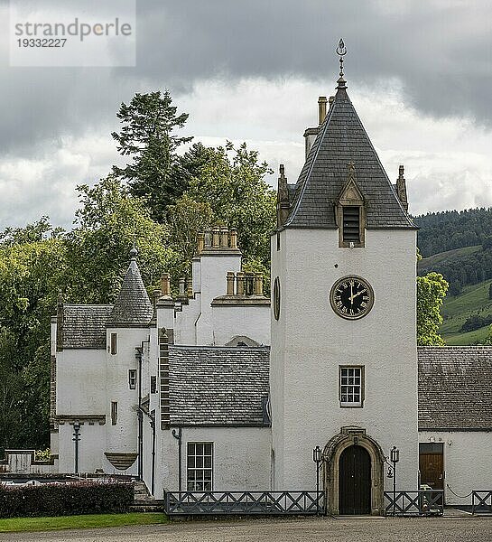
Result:
{"label": "dark forested hillside right of the clock tower", "polygon": [[492,278],[492,209],[446,210],[414,218],[419,275],[441,273],[450,295]]}

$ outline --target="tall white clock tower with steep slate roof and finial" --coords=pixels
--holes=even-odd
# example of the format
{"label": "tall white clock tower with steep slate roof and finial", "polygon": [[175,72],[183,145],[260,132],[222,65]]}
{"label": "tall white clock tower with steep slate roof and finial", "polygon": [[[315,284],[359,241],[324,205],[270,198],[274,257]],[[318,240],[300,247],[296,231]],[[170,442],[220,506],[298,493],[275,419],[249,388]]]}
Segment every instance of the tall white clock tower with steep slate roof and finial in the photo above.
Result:
{"label": "tall white clock tower with steep slate roof and finial", "polygon": [[282,166],[279,179],[273,484],[313,487],[312,449],[320,446],[329,511],[381,514],[394,446],[397,489],[418,489],[416,228],[406,191],[401,201],[348,98],[343,70],[325,113],[326,103],[320,99],[320,126],[306,130],[311,147],[299,180],[289,185]]}

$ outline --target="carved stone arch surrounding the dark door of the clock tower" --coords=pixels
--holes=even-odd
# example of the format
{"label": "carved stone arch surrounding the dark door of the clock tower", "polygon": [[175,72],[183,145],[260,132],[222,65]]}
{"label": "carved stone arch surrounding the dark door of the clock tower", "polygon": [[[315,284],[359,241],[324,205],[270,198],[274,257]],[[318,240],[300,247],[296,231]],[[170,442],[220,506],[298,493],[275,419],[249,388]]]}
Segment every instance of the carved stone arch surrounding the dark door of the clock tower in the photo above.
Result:
{"label": "carved stone arch surrounding the dark door of the clock tower", "polygon": [[348,426],[340,429],[323,450],[323,483],[329,514],[339,514],[339,461],[348,446],[362,446],[371,459],[371,514],[384,514],[385,455],[381,446],[366,434],[362,427]]}

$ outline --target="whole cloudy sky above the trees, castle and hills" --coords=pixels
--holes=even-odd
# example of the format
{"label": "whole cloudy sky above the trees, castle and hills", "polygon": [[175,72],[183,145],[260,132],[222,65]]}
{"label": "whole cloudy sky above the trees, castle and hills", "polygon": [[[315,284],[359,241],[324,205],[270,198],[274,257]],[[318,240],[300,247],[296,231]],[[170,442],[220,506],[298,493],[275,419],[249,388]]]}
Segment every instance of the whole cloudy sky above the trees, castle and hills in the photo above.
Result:
{"label": "whole cloudy sky above the trees, castle and hills", "polygon": [[340,37],[349,96],[391,179],[404,164],[413,214],[492,206],[489,0],[138,0],[127,68],[12,67],[8,13],[0,0],[0,228],[70,227],[76,185],[121,164],[110,134],[135,92],[169,89],[183,135],[246,141],[295,182]]}

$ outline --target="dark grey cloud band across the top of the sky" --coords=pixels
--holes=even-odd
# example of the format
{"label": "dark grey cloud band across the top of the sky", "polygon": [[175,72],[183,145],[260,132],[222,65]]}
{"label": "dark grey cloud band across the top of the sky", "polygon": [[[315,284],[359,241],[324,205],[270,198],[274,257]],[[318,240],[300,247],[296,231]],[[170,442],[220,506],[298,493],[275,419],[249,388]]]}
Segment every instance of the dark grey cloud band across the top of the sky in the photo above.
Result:
{"label": "dark grey cloud band across the top of the sky", "polygon": [[292,74],[331,77],[335,86],[340,35],[353,88],[398,78],[422,113],[468,114],[490,126],[491,14],[480,1],[146,0],[138,2],[137,66],[113,70],[8,68],[4,33],[0,153],[33,154],[40,142],[115,126],[119,103],[135,91],[177,96],[199,79]]}

